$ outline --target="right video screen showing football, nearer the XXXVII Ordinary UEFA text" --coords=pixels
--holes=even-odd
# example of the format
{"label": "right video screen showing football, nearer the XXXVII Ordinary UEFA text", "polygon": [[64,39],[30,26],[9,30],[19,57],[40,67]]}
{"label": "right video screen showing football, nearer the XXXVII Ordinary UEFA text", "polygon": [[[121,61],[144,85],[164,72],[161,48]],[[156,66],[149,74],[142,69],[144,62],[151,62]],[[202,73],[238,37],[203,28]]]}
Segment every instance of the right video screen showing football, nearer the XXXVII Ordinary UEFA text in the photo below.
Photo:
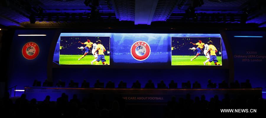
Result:
{"label": "right video screen showing football, nearer the XXXVII Ordinary UEFA text", "polygon": [[220,37],[171,37],[172,65],[222,65]]}

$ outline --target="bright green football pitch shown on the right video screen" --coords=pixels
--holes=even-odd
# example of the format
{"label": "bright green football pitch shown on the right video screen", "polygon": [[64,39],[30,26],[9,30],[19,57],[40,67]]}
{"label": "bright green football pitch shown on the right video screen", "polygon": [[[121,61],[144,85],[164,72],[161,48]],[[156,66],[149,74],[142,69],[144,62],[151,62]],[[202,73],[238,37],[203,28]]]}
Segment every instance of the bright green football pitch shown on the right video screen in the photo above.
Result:
{"label": "bright green football pitch shown on the right video screen", "polygon": [[[172,65],[203,65],[203,62],[207,60],[205,56],[198,56],[196,59],[190,61],[195,55],[192,56],[183,56],[183,55],[172,55]],[[217,56],[218,63],[222,64],[222,57]],[[208,63],[206,63],[208,65]],[[211,62],[211,65],[215,65],[214,62]]]}

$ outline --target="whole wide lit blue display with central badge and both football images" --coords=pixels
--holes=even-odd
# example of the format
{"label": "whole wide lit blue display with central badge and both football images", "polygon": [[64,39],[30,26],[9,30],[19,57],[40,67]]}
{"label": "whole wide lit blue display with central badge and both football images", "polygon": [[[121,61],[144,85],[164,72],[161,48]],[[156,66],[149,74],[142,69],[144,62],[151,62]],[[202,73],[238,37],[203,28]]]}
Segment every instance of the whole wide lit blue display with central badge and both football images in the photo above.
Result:
{"label": "whole wide lit blue display with central badge and both football images", "polygon": [[223,52],[220,34],[61,33],[53,60],[60,65],[222,65]]}

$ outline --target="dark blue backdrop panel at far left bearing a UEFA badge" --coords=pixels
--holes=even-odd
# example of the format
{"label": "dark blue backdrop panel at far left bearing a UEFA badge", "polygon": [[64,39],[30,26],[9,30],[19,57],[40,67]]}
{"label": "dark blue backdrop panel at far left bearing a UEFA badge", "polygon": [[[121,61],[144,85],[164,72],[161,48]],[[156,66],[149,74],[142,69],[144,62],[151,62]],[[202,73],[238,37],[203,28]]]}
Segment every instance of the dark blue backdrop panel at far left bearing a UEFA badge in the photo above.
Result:
{"label": "dark blue backdrop panel at far left bearing a UEFA badge", "polygon": [[[24,86],[32,86],[33,81],[44,81],[47,79],[47,60],[51,53],[50,47],[56,30],[16,30],[14,33],[12,45],[10,47],[9,68],[8,69],[8,88],[16,86],[18,90],[24,90]],[[46,35],[46,36],[18,36],[18,35]],[[12,40],[12,39],[10,39]],[[35,59],[28,60],[22,52],[24,46],[28,42],[34,42],[38,45],[39,54]],[[37,51],[37,45],[35,49]],[[28,45],[30,46],[30,45]],[[34,45],[33,45],[34,46]],[[37,53],[37,52],[36,52]],[[12,90],[12,96],[14,90]],[[20,96],[23,92],[16,92],[16,96]]]}

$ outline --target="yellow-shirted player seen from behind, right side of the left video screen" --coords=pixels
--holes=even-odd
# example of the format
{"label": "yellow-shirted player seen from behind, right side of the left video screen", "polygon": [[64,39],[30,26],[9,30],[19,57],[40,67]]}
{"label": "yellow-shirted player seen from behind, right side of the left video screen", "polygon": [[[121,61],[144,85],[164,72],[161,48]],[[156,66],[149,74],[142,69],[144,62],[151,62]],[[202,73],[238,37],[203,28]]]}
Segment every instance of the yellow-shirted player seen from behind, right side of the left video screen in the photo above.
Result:
{"label": "yellow-shirted player seen from behind, right side of the left video screen", "polygon": [[96,50],[93,53],[93,55],[95,55],[95,53],[98,51],[98,57],[96,60],[96,65],[99,65],[99,61],[102,61],[103,65],[109,65],[108,63],[106,63],[106,60],[104,58],[104,52],[106,51],[105,48],[103,47],[103,45],[101,44],[102,42],[100,40],[98,40],[98,44],[96,46]]}

